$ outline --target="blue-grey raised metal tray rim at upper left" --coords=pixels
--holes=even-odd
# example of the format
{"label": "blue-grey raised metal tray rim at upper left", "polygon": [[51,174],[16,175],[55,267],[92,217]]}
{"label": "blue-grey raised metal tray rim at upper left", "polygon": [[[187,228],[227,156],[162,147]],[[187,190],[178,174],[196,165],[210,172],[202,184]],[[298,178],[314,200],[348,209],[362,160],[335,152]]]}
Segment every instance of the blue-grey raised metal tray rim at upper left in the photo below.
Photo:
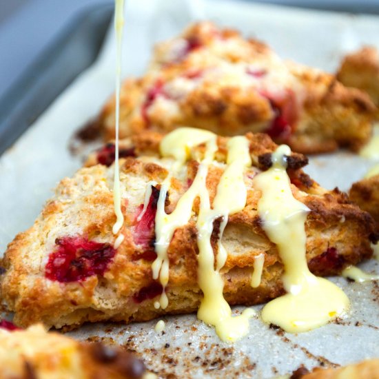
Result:
{"label": "blue-grey raised metal tray rim at upper left", "polygon": [[99,54],[113,6],[85,8],[0,99],[0,154]]}

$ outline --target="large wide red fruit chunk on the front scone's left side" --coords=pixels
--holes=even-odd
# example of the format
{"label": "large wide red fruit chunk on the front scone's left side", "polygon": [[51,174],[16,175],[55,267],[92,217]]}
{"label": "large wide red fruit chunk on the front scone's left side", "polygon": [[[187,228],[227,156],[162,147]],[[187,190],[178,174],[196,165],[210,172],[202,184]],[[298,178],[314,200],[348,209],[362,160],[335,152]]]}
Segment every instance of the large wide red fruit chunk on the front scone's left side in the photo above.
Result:
{"label": "large wide red fruit chunk on the front scone's left side", "polygon": [[55,240],[57,249],[50,254],[45,276],[61,283],[103,276],[116,250],[109,243],[97,243],[84,237],[63,237]]}

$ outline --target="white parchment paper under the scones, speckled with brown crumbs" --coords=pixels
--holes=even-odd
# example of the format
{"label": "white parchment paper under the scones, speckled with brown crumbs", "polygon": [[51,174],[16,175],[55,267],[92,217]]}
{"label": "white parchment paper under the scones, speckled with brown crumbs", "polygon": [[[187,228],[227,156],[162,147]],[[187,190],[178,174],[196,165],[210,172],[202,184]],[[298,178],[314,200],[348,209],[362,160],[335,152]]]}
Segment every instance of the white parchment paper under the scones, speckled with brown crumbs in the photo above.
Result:
{"label": "white parchment paper under the scones, speckled with brown crumbs", "polygon": [[[152,43],[180,32],[194,19],[212,19],[232,26],[246,36],[263,40],[283,57],[333,72],[340,57],[362,43],[379,48],[379,19],[237,1],[127,2],[123,76],[142,74]],[[68,150],[70,137],[96,116],[114,90],[114,39],[112,28],[103,52],[54,101],[17,143],[0,158],[0,251],[17,232],[32,225],[51,189],[63,176],[81,167],[80,156]],[[54,85],[54,83],[52,83]],[[307,168],[328,188],[348,189],[373,165],[349,152],[311,158]],[[379,273],[378,263],[362,265]],[[251,320],[249,336],[234,345],[221,342],[213,329],[196,316],[164,318],[166,329],[156,334],[156,321],[134,325],[85,325],[75,338],[112,338],[137,351],[147,367],[167,376],[185,378],[271,378],[304,364],[343,365],[379,356],[379,285],[332,279],[351,299],[351,313],[325,327],[303,334],[269,329],[259,318]],[[260,306],[254,307],[260,309]],[[243,308],[236,308],[240,311]]]}

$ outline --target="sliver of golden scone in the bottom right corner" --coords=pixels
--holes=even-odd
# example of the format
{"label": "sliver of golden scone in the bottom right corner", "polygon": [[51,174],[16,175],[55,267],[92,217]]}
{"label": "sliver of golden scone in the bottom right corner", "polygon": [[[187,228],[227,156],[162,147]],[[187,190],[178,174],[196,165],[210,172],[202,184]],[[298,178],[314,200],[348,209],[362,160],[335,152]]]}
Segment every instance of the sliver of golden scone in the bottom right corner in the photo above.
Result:
{"label": "sliver of golden scone in the bottom right corner", "polygon": [[338,367],[337,369],[314,369],[298,379],[379,379],[379,358]]}

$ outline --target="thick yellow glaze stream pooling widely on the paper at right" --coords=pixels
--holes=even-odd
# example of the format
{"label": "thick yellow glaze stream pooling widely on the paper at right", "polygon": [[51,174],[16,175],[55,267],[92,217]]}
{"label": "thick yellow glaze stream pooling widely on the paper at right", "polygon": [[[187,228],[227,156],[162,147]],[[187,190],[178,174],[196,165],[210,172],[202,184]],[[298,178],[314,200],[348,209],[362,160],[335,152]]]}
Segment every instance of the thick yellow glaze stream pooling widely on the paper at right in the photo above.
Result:
{"label": "thick yellow glaze stream pooling widely on the paper at right", "polygon": [[278,147],[272,154],[272,167],[254,178],[254,186],[262,192],[258,214],[285,266],[283,285],[287,291],[265,305],[262,318],[297,333],[341,316],[349,307],[349,299],[329,280],[309,272],[305,257],[305,220],[309,209],[291,192],[285,160],[290,154],[287,145]]}

